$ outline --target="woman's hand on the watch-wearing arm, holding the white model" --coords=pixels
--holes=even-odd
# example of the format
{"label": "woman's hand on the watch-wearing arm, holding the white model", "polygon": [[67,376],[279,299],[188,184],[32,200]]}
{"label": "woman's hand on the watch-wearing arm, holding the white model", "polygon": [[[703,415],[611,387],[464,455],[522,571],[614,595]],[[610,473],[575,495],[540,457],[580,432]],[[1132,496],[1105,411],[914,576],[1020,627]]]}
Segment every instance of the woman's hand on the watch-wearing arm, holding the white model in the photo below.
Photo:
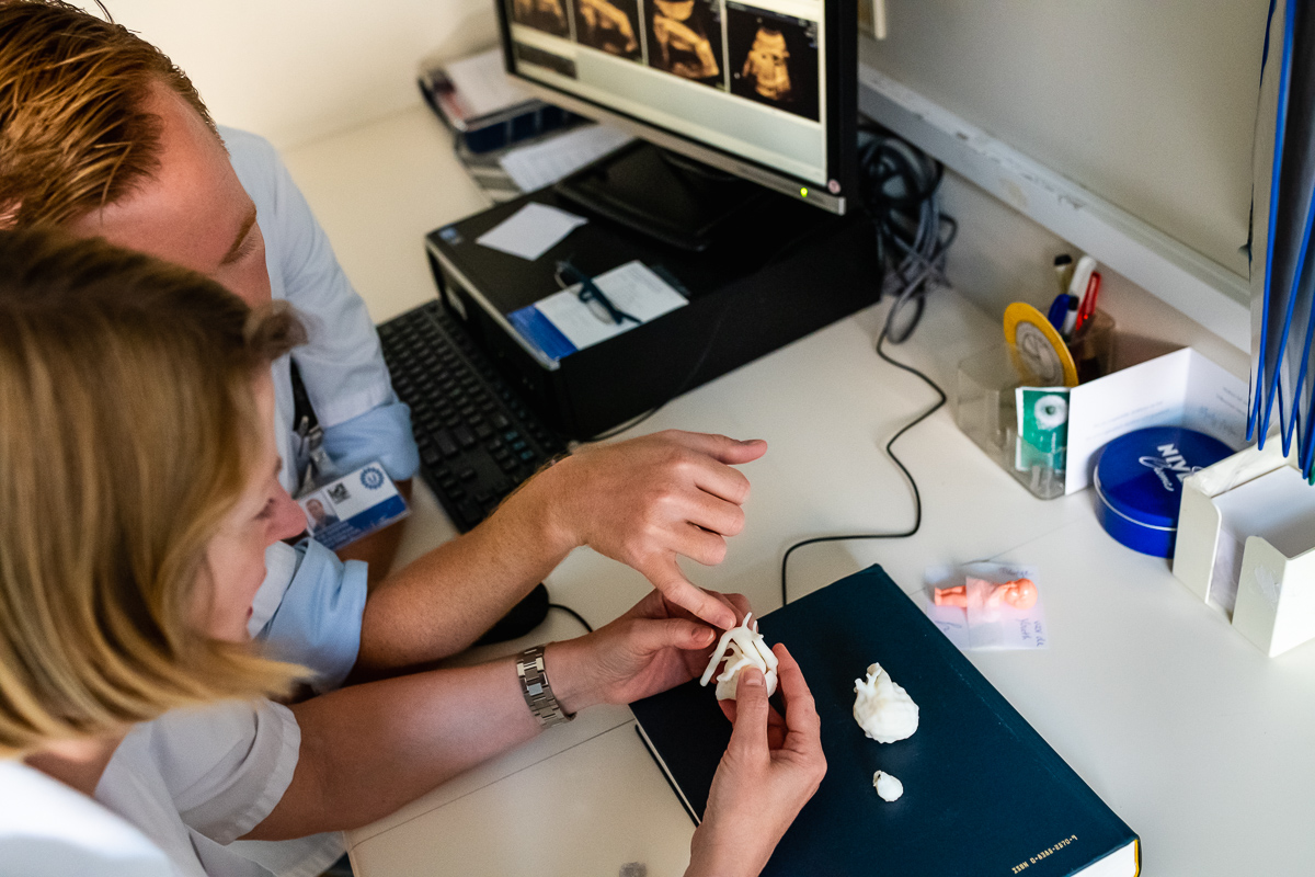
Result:
{"label": "woman's hand on the watch-wearing arm, holding the white model", "polygon": [[[704,592],[743,618],[742,594]],[[550,643],[543,664],[567,713],[594,703],[630,703],[702,675],[721,631],[650,592],[625,615],[594,632]]]}

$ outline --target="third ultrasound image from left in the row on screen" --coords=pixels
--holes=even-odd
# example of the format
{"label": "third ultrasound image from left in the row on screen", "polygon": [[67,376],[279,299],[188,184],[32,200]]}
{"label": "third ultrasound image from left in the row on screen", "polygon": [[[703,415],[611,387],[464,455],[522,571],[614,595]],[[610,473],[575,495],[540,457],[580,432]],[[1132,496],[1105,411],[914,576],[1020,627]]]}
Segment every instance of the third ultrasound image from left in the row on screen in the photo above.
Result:
{"label": "third ultrasound image from left in the row on screen", "polygon": [[726,88],[717,3],[651,0],[646,8],[648,66],[713,88]]}

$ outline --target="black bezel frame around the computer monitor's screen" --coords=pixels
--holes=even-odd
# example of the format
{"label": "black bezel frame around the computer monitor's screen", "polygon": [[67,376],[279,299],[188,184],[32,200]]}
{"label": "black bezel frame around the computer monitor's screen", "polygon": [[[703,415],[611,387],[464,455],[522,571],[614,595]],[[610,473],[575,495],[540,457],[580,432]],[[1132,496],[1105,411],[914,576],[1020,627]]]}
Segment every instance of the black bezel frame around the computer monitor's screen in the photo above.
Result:
{"label": "black bezel frame around the computer monitor's screen", "polygon": [[[735,0],[736,3],[742,0]],[[823,210],[844,214],[857,204],[857,137],[859,137],[859,9],[857,0],[823,0],[822,26],[826,32],[826,117],[831,129],[827,137],[827,184],[794,176],[780,168],[736,155],[718,146],[697,141],[688,134],[655,125],[588,97],[572,95],[515,71],[512,20],[508,3],[494,0],[502,66],[508,75],[531,96],[555,104],[598,122],[619,128],[627,134],[704,162],[711,167],[751,180]]]}

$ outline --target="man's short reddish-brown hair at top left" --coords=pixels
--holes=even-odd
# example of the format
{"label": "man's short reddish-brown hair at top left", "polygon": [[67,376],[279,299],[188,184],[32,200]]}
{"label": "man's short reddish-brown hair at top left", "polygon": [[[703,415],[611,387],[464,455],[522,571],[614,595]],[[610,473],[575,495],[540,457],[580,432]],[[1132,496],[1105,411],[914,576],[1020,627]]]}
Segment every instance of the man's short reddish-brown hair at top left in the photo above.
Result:
{"label": "man's short reddish-brown hair at top left", "polygon": [[64,225],[151,175],[155,83],[214,128],[187,74],[122,25],[58,0],[0,0],[0,229]]}

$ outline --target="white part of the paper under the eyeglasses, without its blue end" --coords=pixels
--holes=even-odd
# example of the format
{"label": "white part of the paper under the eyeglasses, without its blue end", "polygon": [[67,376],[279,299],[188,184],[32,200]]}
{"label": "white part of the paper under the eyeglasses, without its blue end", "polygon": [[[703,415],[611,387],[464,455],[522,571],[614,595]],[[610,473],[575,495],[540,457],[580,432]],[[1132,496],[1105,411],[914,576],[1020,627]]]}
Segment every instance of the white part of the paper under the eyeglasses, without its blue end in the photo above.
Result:
{"label": "white part of the paper under the eyeglasses, without its blue end", "polygon": [[[685,297],[672,289],[671,284],[638,260],[601,273],[593,283],[617,309],[640,323],[656,320],[686,304]],[[580,301],[579,292],[579,285],[569,287],[534,305],[575,344],[576,350],[592,347],[635,327],[629,320],[617,323],[605,317],[596,306]]]}

